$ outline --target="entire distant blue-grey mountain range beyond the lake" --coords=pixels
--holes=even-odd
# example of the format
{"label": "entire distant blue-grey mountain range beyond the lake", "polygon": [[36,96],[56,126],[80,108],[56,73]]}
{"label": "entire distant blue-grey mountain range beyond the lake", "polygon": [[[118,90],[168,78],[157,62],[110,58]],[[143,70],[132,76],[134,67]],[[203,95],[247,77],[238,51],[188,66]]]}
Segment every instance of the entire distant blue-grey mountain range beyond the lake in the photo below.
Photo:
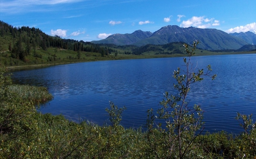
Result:
{"label": "entire distant blue-grey mountain range beyond the lake", "polygon": [[113,34],[106,39],[92,42],[143,46],[146,44],[162,45],[170,42],[185,42],[192,44],[195,40],[200,42],[200,45],[198,45],[198,48],[200,49],[239,49],[244,45],[256,44],[256,34],[252,32],[228,34],[218,29],[201,29],[192,26],[183,28],[169,25],[160,28],[154,33],[137,30],[132,34]]}

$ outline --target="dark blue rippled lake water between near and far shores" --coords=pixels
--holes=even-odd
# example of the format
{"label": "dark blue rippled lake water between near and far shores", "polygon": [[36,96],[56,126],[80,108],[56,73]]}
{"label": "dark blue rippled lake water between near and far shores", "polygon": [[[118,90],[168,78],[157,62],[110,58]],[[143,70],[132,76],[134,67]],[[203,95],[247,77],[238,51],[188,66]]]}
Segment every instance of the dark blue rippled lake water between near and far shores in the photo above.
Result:
{"label": "dark blue rippled lake water between near and far shores", "polygon": [[[98,61],[12,72],[14,83],[47,87],[54,99],[42,113],[62,114],[70,120],[102,125],[109,101],[126,106],[121,124],[146,124],[146,111],[160,108],[164,92],[173,89],[173,71],[183,57]],[[192,85],[189,103],[204,110],[205,131],[240,133],[236,112],[256,117],[256,54],[193,57],[194,66],[211,64],[216,80]],[[255,118],[254,118],[255,119]]]}

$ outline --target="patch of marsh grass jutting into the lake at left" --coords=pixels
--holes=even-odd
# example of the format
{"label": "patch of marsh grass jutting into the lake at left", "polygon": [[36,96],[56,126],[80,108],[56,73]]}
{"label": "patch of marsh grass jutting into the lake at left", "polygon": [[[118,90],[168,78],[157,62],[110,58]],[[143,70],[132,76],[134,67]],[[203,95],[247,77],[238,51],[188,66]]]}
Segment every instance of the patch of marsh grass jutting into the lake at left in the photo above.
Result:
{"label": "patch of marsh grass jutting into the lake at left", "polygon": [[9,90],[23,100],[29,100],[36,105],[43,104],[52,100],[53,96],[49,94],[45,87],[35,87],[29,85],[10,85]]}

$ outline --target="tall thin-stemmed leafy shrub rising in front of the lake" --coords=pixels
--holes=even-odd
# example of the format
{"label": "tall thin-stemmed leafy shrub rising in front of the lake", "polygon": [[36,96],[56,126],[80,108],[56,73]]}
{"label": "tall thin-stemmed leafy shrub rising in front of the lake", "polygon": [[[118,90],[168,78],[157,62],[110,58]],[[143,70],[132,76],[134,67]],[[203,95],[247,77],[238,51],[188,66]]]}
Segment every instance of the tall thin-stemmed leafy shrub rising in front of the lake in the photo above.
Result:
{"label": "tall thin-stemmed leafy shrub rising in front of the lake", "polygon": [[[165,158],[172,158],[172,156],[179,156],[178,158],[191,158],[188,152],[193,151],[196,145],[193,144],[196,138],[202,133],[203,126],[203,110],[200,105],[194,105],[191,107],[186,101],[187,95],[190,90],[190,85],[203,80],[203,76],[210,76],[212,71],[211,66],[207,66],[207,72],[204,73],[204,69],[193,68],[193,64],[190,62],[191,57],[195,55],[196,45],[199,42],[193,43],[192,51],[188,49],[188,45],[184,44],[185,50],[188,55],[184,60],[184,73],[181,74],[180,67],[177,71],[174,70],[173,77],[176,79],[177,84],[174,84],[174,88],[178,91],[177,95],[169,96],[168,92],[165,92],[165,99],[160,102],[161,108],[157,110],[158,119],[164,120],[164,123],[157,125],[160,133],[162,133],[162,140],[165,142],[165,152],[163,154]],[[212,75],[214,79],[216,75]],[[152,109],[148,110],[148,137],[154,138],[155,131],[153,131],[152,125],[155,122]],[[150,117],[150,118],[149,118]],[[165,124],[165,128],[162,125]],[[159,133],[157,132],[157,133]],[[151,143],[152,148],[156,147],[155,143]],[[159,156],[156,153],[156,158]]]}

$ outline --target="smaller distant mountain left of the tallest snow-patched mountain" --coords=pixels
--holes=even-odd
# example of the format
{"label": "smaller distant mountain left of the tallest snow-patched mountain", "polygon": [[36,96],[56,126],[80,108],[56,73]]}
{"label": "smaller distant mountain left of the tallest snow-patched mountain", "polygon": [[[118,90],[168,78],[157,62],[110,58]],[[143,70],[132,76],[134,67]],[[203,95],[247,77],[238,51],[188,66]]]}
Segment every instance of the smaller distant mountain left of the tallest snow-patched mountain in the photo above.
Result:
{"label": "smaller distant mountain left of the tallest snow-patched mountain", "polygon": [[131,45],[139,42],[142,39],[148,38],[152,35],[151,32],[144,32],[137,30],[132,34],[113,34],[108,36],[106,39],[99,41],[92,41],[93,43],[105,43],[105,44],[115,44],[115,45]]}

